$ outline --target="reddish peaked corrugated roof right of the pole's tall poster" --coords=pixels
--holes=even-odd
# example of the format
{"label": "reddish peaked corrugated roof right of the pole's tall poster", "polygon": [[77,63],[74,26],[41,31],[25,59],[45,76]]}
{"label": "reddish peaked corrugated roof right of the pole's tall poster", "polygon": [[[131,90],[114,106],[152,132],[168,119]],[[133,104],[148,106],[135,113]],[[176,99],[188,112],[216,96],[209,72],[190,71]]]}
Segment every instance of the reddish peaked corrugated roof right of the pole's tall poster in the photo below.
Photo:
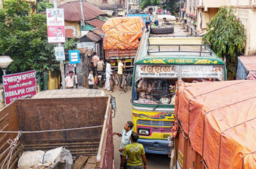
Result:
{"label": "reddish peaked corrugated roof right of the pole's tall poster", "polygon": [[[98,17],[98,15],[106,14],[89,2],[82,2],[82,5],[85,20],[92,20]],[[80,2],[67,2],[59,8],[64,8],[64,17],[67,21],[80,21],[82,19]]]}

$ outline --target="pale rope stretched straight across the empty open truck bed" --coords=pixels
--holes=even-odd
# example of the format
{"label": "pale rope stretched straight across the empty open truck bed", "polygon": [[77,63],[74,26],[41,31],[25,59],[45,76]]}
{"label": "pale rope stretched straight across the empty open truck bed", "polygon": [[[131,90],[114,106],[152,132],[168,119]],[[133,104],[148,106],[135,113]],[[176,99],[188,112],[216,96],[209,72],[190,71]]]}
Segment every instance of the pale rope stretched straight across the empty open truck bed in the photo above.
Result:
{"label": "pale rope stretched straight across the empty open truck bed", "polygon": [[0,131],[0,134],[17,134],[22,132],[22,134],[39,134],[39,133],[47,133],[47,132],[58,132],[58,131],[76,131],[76,130],[83,130],[89,128],[101,128],[103,125],[91,126],[91,127],[84,127],[84,128],[66,128],[66,129],[58,129],[58,130],[49,130],[49,131]]}

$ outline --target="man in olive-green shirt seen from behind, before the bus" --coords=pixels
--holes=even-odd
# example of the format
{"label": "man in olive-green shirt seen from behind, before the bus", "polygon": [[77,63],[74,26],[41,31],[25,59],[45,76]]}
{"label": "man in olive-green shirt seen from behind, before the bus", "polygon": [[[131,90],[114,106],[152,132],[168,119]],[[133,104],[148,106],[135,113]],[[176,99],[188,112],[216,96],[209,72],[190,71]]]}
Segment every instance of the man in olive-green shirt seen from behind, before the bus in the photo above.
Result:
{"label": "man in olive-green shirt seen from behind, before the bus", "polygon": [[123,149],[123,157],[122,157],[120,169],[123,169],[123,163],[126,159],[126,155],[128,155],[127,169],[142,169],[142,161],[144,163],[143,169],[147,168],[145,150],[142,144],[136,143],[138,139],[139,139],[139,134],[136,134],[135,132],[133,132],[130,137],[130,140],[132,143],[125,146],[125,148]]}

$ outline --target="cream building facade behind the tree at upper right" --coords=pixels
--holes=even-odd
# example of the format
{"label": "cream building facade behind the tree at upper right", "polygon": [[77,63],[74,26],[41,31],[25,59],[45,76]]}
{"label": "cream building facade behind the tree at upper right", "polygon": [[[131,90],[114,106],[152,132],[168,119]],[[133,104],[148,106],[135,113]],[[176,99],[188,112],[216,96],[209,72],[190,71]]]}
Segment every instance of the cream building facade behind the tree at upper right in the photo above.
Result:
{"label": "cream building facade behind the tree at upper right", "polygon": [[198,32],[205,32],[206,23],[217,14],[220,6],[236,8],[236,17],[245,26],[246,44],[245,55],[256,54],[256,0],[187,0],[186,18],[187,24],[194,27]]}

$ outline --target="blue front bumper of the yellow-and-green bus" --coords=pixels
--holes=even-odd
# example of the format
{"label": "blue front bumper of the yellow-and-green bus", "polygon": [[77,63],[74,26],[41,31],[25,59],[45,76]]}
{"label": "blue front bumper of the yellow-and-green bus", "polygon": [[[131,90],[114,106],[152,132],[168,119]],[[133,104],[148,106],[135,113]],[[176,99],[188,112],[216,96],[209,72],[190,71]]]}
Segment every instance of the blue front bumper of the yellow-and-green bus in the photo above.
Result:
{"label": "blue front bumper of the yellow-and-green bus", "polygon": [[137,143],[141,143],[144,146],[146,153],[168,155],[170,152],[168,140],[139,139]]}

